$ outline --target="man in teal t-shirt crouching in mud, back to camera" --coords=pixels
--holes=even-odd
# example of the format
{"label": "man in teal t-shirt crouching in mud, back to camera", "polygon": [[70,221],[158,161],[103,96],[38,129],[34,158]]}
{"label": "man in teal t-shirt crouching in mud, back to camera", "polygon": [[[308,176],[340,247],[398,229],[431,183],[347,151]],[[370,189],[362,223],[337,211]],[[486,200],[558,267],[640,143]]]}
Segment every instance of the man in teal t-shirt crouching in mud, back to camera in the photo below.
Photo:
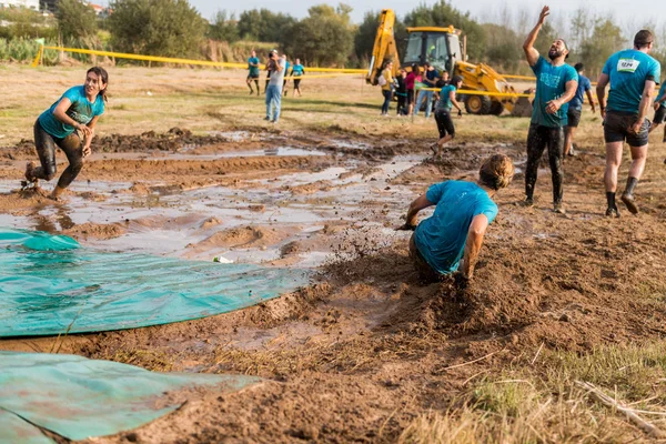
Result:
{"label": "man in teal t-shirt crouching in mud, back to camera", "polygon": [[[407,222],[398,230],[412,230],[410,256],[423,281],[436,282],[455,273],[458,286],[466,286],[474,274],[483,236],[497,215],[492,198],[508,186],[514,165],[504,154],[486,159],[478,171],[478,181],[445,181],[435,183],[410,205]],[[436,205],[428,219],[418,223],[418,212]],[[462,260],[462,264],[461,264]]]}

